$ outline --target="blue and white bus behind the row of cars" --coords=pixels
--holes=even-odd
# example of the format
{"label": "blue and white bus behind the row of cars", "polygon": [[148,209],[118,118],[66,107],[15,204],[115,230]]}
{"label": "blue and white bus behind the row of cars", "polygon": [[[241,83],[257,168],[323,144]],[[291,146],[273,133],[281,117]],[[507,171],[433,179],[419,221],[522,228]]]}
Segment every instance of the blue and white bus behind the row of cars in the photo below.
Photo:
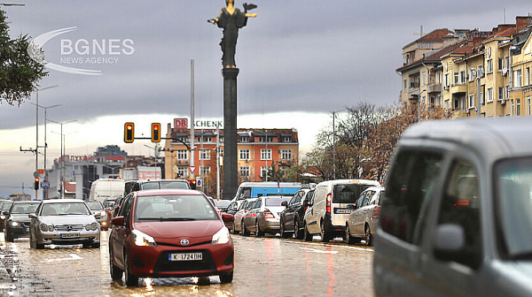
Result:
{"label": "blue and white bus behind the row of cars", "polygon": [[233,200],[244,200],[269,195],[293,196],[301,189],[301,183],[294,182],[243,182],[240,184]]}

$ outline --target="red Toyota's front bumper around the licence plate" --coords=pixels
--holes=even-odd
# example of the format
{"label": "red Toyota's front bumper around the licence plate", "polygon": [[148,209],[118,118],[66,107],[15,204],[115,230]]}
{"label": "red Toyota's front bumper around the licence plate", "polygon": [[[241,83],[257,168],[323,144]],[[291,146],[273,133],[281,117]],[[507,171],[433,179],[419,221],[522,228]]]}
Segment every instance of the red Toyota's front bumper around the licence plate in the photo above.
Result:
{"label": "red Toyota's front bumper around the licence plate", "polygon": [[[202,260],[170,261],[176,253],[201,253]],[[213,245],[210,241],[192,247],[159,243],[156,247],[129,246],[128,261],[131,274],[137,277],[172,278],[210,276],[229,273],[234,269],[232,240]]]}

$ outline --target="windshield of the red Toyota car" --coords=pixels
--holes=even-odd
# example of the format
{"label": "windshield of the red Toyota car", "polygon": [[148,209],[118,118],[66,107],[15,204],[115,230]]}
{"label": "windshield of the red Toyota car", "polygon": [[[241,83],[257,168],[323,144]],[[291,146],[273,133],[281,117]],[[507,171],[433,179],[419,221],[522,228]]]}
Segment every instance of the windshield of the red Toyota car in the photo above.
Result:
{"label": "windshield of the red Toyota car", "polygon": [[189,221],[218,219],[203,195],[137,196],[135,221]]}

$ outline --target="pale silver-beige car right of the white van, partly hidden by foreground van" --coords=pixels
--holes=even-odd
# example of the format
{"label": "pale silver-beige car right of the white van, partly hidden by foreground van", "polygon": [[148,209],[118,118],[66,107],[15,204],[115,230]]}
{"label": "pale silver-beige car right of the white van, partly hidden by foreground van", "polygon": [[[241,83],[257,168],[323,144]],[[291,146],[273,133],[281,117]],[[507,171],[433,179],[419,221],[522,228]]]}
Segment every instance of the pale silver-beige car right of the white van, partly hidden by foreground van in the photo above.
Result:
{"label": "pale silver-beige car right of the white van, partly hidden by foreground van", "polygon": [[360,194],[346,222],[346,242],[355,243],[364,239],[368,246],[373,245],[374,232],[379,223],[380,196],[384,187],[368,187]]}

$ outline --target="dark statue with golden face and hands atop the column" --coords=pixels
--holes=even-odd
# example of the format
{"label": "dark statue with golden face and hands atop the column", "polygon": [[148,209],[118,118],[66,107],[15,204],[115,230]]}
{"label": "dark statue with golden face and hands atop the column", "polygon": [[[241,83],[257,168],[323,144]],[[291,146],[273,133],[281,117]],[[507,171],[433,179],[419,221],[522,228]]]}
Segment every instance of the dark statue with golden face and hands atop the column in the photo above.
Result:
{"label": "dark statue with golden face and hands atop the column", "polygon": [[220,15],[216,19],[208,19],[212,24],[217,24],[223,28],[223,37],[220,46],[222,47],[222,65],[225,68],[236,68],[235,52],[237,48],[237,38],[239,37],[239,28],[246,26],[247,18],[255,18],[256,13],[247,13],[257,7],[255,4],[243,4],[244,12],[235,8],[234,0],[225,0],[226,7],[223,7]]}

